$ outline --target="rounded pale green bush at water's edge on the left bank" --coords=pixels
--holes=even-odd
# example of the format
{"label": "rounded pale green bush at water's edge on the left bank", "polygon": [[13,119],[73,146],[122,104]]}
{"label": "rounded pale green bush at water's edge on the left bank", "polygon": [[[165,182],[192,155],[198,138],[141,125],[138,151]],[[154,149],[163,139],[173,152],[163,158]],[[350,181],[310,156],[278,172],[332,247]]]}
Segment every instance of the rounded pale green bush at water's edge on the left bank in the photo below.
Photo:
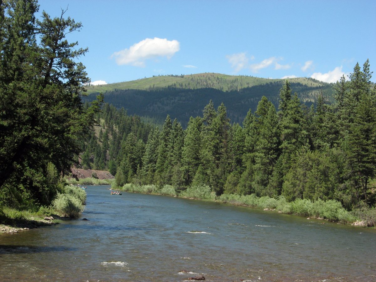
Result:
{"label": "rounded pale green bush at water's edge on the left bank", "polygon": [[81,201],[69,194],[58,194],[52,205],[59,214],[67,215],[70,218],[78,218],[83,211]]}

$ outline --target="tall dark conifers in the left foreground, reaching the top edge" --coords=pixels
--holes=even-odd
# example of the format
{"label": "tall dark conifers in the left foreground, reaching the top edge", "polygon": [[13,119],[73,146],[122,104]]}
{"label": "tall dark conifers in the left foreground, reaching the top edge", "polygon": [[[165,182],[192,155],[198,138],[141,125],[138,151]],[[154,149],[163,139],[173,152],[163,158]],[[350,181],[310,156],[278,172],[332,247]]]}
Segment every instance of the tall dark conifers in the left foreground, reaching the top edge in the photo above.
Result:
{"label": "tall dark conifers in the left foreground, reaching the top edge", "polygon": [[65,39],[81,23],[64,11],[36,21],[33,0],[0,7],[0,190],[8,205],[47,205],[59,190],[53,171],[77,160],[100,100],[83,107],[89,78],[77,58],[87,50]]}

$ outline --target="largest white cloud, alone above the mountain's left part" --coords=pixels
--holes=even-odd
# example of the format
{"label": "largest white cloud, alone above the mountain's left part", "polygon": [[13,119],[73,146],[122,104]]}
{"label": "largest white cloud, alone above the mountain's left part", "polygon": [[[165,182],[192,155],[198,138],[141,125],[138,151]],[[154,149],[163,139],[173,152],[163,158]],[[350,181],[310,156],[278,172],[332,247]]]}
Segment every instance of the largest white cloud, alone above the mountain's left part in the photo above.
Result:
{"label": "largest white cloud, alone above the mountain's left part", "polygon": [[154,37],[153,39],[146,38],[135,43],[129,49],[115,52],[111,55],[111,58],[115,57],[118,65],[145,67],[145,60],[157,57],[167,57],[170,59],[179,50],[179,41]]}

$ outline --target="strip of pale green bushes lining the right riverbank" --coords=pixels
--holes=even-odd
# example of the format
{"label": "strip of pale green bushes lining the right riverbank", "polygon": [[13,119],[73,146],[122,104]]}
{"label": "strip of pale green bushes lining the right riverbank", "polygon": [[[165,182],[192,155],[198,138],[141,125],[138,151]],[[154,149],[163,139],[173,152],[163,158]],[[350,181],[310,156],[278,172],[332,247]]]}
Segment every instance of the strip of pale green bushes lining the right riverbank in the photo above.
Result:
{"label": "strip of pale green bushes lining the right riverbank", "polygon": [[159,188],[155,185],[135,185],[127,183],[122,187],[112,186],[112,188],[134,193],[158,194],[186,199],[222,202],[230,205],[247,206],[250,208],[263,209],[265,211],[276,211],[284,214],[294,214],[362,227],[373,227],[376,222],[375,209],[347,211],[340,202],[335,200],[323,201],[319,199],[315,202],[311,202],[310,200],[296,199],[293,202],[287,202],[283,196],[279,196],[277,199],[267,196],[257,197],[255,194],[246,196],[222,194],[216,196],[207,185],[195,185],[178,192],[171,185],[164,185]]}

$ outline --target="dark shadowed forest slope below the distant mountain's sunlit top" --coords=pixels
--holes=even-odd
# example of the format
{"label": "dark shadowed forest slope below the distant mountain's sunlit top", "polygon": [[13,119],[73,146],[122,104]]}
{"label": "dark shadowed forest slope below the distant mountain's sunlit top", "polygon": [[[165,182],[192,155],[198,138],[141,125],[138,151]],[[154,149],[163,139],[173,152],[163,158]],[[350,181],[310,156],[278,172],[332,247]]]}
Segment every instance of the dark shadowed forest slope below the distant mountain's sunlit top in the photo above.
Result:
{"label": "dark shadowed forest slope below the distant mountain's sunlit top", "polygon": [[[257,104],[262,96],[266,96],[277,108],[279,103],[279,90],[284,85],[283,80],[261,83],[260,85],[247,86],[241,89],[222,91],[214,88],[162,88],[155,90],[126,89],[109,90],[105,92],[105,102],[126,108],[129,114],[149,117],[163,124],[167,115],[177,118],[185,128],[191,116],[201,114],[201,110],[212,100],[214,105],[222,102],[226,105],[227,115],[232,122],[241,124],[249,109],[256,111]],[[308,83],[290,83],[291,91],[309,107],[316,100],[315,92],[323,91],[331,97],[333,89],[331,84],[309,86]],[[95,88],[94,88],[95,89]],[[98,88],[100,89],[100,88]],[[103,90],[105,91],[105,90]],[[85,101],[92,101],[96,93],[83,97]]]}

